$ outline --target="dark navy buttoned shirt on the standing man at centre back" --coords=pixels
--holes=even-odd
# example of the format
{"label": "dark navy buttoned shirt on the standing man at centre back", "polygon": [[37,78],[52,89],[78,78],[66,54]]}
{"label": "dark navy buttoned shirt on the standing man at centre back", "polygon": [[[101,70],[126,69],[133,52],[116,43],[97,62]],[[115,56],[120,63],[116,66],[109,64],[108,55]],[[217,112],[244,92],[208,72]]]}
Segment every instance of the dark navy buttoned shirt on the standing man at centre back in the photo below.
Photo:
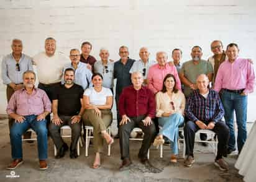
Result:
{"label": "dark navy buttoned shirt on the standing man at centre back", "polygon": [[122,64],[121,59],[114,63],[114,79],[116,80],[116,97],[122,92],[124,87],[132,85],[132,81],[130,79],[130,68],[132,64],[134,64],[134,59],[128,59],[126,64]]}

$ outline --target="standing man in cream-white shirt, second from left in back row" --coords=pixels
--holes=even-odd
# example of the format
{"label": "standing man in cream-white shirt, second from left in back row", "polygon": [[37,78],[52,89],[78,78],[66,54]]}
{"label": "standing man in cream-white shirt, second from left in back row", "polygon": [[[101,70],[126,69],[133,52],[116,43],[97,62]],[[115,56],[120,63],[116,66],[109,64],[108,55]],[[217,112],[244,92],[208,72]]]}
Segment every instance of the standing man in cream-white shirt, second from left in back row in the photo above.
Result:
{"label": "standing man in cream-white shirt, second from left in back row", "polygon": [[[56,40],[52,37],[45,40],[45,51],[35,55],[33,61],[37,67],[38,87],[44,90],[52,101],[52,93],[62,79],[63,67],[70,61],[63,53],[56,52]],[[50,115],[46,119],[47,124],[50,124]]]}

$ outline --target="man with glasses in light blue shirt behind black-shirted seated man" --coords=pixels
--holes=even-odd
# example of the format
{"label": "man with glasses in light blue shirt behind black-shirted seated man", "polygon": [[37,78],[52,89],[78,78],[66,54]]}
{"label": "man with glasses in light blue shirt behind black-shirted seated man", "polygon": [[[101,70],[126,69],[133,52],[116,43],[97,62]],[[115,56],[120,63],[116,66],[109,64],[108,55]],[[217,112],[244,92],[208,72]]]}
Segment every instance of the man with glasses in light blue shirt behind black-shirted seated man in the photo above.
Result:
{"label": "man with glasses in light blue shirt behind black-shirted seated man", "polygon": [[[88,87],[92,87],[91,77],[93,74],[87,68],[85,63],[80,62],[80,51],[77,49],[70,50],[70,60],[71,63],[64,66],[63,73],[65,69],[72,68],[75,70],[75,84],[81,85],[84,90]],[[64,84],[63,78],[62,84]]]}

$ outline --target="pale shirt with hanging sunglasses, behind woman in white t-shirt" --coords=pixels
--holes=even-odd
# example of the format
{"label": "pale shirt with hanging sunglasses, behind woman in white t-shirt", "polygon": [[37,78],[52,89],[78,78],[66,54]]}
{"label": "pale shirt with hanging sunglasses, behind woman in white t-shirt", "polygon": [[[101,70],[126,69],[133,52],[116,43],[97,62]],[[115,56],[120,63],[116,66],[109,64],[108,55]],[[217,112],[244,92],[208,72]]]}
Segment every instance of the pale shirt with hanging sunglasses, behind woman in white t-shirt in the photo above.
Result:
{"label": "pale shirt with hanging sunglasses, behind woman in white t-shirt", "polygon": [[94,72],[102,74],[103,87],[108,89],[114,87],[114,62],[107,60],[107,64],[103,65],[103,61],[96,61],[94,64]]}

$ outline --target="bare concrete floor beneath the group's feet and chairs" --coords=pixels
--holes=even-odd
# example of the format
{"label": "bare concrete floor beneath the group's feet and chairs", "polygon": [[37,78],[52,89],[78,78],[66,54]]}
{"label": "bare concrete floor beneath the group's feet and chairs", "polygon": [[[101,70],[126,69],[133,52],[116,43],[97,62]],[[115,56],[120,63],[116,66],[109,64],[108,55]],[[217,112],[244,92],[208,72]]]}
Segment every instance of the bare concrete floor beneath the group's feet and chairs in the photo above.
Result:
{"label": "bare concrete floor beneath the group's feet and chairs", "polygon": [[[70,142],[69,139],[65,139]],[[155,168],[139,163],[137,153],[140,142],[130,142],[130,155],[132,167],[127,171],[119,171],[121,164],[119,153],[119,141],[115,140],[111,147],[111,156],[103,155],[102,167],[98,170],[90,168],[93,163],[93,147],[89,149],[89,157],[85,157],[85,147],[80,148],[81,154],[76,159],[70,159],[69,154],[65,158],[55,159],[53,156],[53,142],[48,140],[48,170],[40,171],[37,159],[37,142],[23,143],[24,163],[14,170],[19,178],[11,179],[7,165],[11,162],[11,147],[9,143],[9,129],[7,119],[0,120],[0,181],[242,181],[234,168],[236,155],[226,158],[230,170],[222,172],[213,165],[214,154],[211,147],[195,145],[195,160],[193,167],[183,166],[183,158],[178,163],[169,162],[170,148],[164,146],[163,158],[159,157],[159,150],[150,149],[150,162]],[[182,150],[182,144],[181,144]],[[105,150],[107,151],[107,150]],[[182,152],[182,151],[180,151]],[[200,152],[200,153],[199,153]],[[12,172],[13,173],[13,172]]]}

